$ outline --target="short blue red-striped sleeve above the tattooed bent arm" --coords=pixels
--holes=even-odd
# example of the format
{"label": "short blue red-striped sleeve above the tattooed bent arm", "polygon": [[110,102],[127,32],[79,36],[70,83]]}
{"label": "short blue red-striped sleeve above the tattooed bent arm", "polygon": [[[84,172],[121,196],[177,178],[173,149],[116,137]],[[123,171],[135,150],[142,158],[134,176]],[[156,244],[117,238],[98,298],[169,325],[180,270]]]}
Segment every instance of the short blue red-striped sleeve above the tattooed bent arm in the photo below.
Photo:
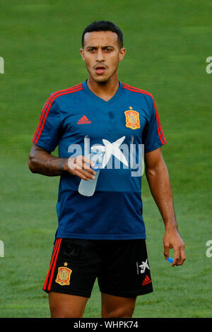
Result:
{"label": "short blue red-striped sleeve above the tattooed bent arm", "polygon": [[52,152],[58,146],[61,131],[61,116],[56,97],[50,95],[42,112],[40,121],[33,136],[33,143],[40,148]]}

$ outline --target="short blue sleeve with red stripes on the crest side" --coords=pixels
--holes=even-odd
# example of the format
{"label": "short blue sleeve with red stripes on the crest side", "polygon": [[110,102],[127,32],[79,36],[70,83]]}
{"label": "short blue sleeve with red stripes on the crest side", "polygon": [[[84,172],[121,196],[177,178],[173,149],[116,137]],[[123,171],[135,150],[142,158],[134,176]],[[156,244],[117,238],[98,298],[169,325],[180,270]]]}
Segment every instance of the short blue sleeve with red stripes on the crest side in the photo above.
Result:
{"label": "short blue sleeve with red stripes on the crest side", "polygon": [[150,105],[150,117],[143,131],[144,152],[151,152],[167,143],[160,124],[158,109],[152,98]]}

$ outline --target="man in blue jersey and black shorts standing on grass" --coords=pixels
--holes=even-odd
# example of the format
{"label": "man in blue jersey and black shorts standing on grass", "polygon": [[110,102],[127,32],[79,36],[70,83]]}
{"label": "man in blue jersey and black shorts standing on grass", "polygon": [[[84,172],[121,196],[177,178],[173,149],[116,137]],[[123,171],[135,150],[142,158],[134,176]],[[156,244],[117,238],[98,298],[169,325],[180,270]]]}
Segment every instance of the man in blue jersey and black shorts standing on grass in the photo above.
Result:
{"label": "man in blue jersey and black shorts standing on grass", "polygon": [[[136,165],[141,160],[139,147],[144,146],[146,177],[165,224],[165,259],[173,248],[172,266],[185,260],[161,152],[166,140],[158,110],[150,93],[119,81],[118,64],[125,54],[117,25],[107,21],[88,25],[81,48],[88,80],[50,95],[33,137],[30,170],[60,176],[59,226],[43,287],[49,294],[51,317],[83,317],[96,278],[105,318],[131,317],[136,297],[153,291],[142,217],[142,174],[133,173],[131,160],[121,151],[124,146],[125,152],[131,144],[136,146]],[[95,145],[110,154],[103,159],[95,194],[83,196],[78,193],[81,179],[91,182],[95,177],[86,151]],[[57,146],[59,158],[51,155]],[[114,167],[117,161],[120,167]]]}

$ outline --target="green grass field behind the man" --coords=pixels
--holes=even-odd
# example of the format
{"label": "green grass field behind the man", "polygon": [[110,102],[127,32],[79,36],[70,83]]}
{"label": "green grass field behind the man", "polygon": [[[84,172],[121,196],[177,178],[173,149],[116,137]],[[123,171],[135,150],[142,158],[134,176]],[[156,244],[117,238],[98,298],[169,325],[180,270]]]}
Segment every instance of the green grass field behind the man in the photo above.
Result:
{"label": "green grass field behind the man", "polygon": [[[49,93],[85,81],[81,34],[93,20],[124,32],[119,79],[153,93],[168,144],[179,231],[187,261],[163,257],[163,220],[143,177],[143,206],[154,292],[138,297],[134,317],[211,317],[212,3],[188,1],[1,1],[0,317],[49,317],[42,285],[57,228],[59,178],[28,170],[42,105]],[[172,253],[171,253],[172,256]],[[95,284],[85,317],[100,317]]]}

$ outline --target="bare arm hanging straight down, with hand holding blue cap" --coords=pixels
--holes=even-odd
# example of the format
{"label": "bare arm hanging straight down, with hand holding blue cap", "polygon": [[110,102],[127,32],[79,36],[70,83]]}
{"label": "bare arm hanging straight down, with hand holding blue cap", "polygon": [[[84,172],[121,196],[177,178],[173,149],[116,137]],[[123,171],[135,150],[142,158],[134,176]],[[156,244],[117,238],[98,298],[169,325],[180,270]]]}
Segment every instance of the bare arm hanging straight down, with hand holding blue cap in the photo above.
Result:
{"label": "bare arm hanging straight down, with hand holding blue cap", "polygon": [[165,161],[163,160],[161,148],[146,153],[145,164],[146,178],[151,189],[151,194],[165,225],[165,235],[163,238],[165,259],[169,256],[170,248],[173,248],[175,250],[175,259],[172,266],[182,265],[185,260],[184,242],[178,232],[170,177]]}

